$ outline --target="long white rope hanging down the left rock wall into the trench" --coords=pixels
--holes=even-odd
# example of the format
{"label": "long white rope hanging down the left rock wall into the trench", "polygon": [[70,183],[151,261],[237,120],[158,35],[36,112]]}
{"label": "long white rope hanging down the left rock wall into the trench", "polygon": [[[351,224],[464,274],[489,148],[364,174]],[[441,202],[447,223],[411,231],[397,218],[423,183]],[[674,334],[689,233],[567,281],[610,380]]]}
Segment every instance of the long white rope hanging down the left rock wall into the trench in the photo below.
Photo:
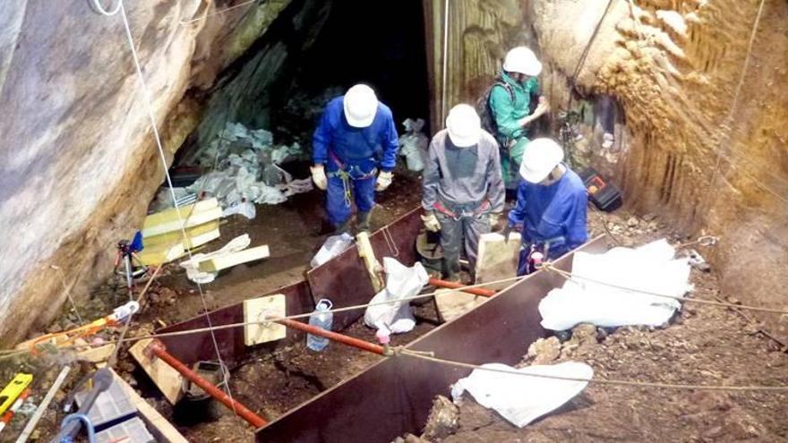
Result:
{"label": "long white rope hanging down the left rock wall into the trench", "polygon": [[[169,192],[170,192],[170,195],[172,196],[173,203],[175,205],[176,215],[178,217],[178,223],[181,226],[181,234],[183,234],[184,242],[188,243],[189,237],[186,234],[186,228],[185,228],[185,224],[184,224],[184,219],[183,219],[183,217],[181,217],[181,209],[180,209],[180,206],[178,205],[178,200],[176,198],[176,192],[175,192],[175,189],[174,189],[173,184],[172,184],[172,177],[170,177],[170,175],[169,175],[169,167],[167,166],[167,156],[164,154],[164,148],[161,145],[161,137],[158,134],[158,127],[157,127],[157,124],[156,124],[156,115],[154,115],[154,113],[153,113],[153,105],[152,105],[152,101],[150,99],[150,89],[148,89],[148,84],[145,82],[145,76],[142,74],[142,67],[141,67],[141,64],[140,64],[140,59],[137,56],[137,49],[134,47],[134,38],[132,36],[131,27],[129,26],[128,17],[126,16],[126,13],[125,13],[123,0],[118,0],[118,3],[120,4],[120,6],[119,6],[120,7],[120,13],[121,13],[121,18],[123,19],[123,23],[124,23],[124,30],[125,30],[125,33],[126,33],[126,38],[128,38],[129,48],[131,49],[131,52],[132,52],[132,59],[133,59],[133,62],[134,62],[134,69],[136,70],[137,77],[140,80],[140,88],[141,88],[141,92],[142,92],[142,98],[144,99],[145,108],[146,108],[146,110],[148,112],[148,117],[150,119],[150,127],[153,130],[153,136],[156,139],[156,146],[158,148],[158,154],[159,154],[159,156],[161,158],[161,164],[164,167],[164,175],[167,178],[167,186],[169,187]],[[192,251],[189,250],[189,249],[186,249],[186,252],[189,255],[189,259],[191,260],[192,259]],[[205,294],[203,294],[202,286],[199,283],[197,284],[197,289],[198,289],[198,291],[200,293],[200,298],[201,298],[201,301],[202,301],[202,309],[205,311],[205,319],[208,322],[208,326],[210,328],[212,328],[213,325],[212,325],[212,323],[210,321],[210,314],[209,314],[209,310],[208,310],[208,303],[205,301]],[[129,319],[129,321],[131,321],[131,318]],[[216,340],[216,335],[214,334],[213,330],[210,331],[210,337],[213,340],[213,347],[216,350],[216,357],[218,359],[218,362],[219,362],[220,365],[224,366],[225,363],[222,361],[221,353],[219,352],[219,349],[218,349],[218,342]],[[223,372],[223,378],[224,378],[225,387],[227,388],[227,396],[229,396],[230,399],[232,400],[233,395],[230,393],[230,386],[229,386],[229,383],[227,382],[227,374],[224,374],[224,372]],[[233,405],[233,413],[236,413],[235,405]]]}

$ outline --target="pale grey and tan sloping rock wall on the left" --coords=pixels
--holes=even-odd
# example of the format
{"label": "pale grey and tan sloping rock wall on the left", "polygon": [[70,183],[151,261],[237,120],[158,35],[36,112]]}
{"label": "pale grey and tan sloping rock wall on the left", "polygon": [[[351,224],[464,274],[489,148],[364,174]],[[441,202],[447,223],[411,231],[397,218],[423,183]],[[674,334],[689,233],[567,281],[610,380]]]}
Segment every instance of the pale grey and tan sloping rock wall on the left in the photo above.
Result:
{"label": "pale grey and tan sloping rock wall on the left", "polygon": [[[103,2],[107,3],[107,2]],[[167,161],[221,72],[296,0],[126,2]],[[112,270],[164,169],[120,15],[0,2],[0,342],[46,325]]]}

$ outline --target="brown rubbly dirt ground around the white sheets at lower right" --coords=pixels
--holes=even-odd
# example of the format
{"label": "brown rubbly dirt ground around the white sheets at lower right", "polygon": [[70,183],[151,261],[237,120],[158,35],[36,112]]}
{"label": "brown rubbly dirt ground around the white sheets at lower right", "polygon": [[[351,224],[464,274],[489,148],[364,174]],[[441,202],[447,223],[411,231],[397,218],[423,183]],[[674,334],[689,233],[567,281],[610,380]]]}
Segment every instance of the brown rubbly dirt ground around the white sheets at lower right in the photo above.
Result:
{"label": "brown rubbly dirt ground around the white sheets at lower right", "polygon": [[[591,214],[591,226],[605,223],[625,244],[640,244],[665,232],[657,222]],[[713,273],[693,269],[692,297],[715,300]],[[735,298],[727,302],[738,303]],[[618,328],[611,335],[576,328],[569,341],[537,354],[538,363],[586,362],[600,379],[627,379],[694,385],[784,386],[788,355],[759,332],[746,312],[686,303],[668,328]],[[521,365],[534,364],[525,357]],[[424,439],[444,443],[553,441],[786,441],[784,393],[710,392],[591,384],[557,411],[523,429],[463,396],[444,402],[433,416],[454,416],[442,429],[428,422]],[[447,410],[448,409],[448,410]],[[452,411],[452,409],[454,409]],[[409,436],[407,441],[420,441]],[[421,440],[424,441],[424,440]]]}

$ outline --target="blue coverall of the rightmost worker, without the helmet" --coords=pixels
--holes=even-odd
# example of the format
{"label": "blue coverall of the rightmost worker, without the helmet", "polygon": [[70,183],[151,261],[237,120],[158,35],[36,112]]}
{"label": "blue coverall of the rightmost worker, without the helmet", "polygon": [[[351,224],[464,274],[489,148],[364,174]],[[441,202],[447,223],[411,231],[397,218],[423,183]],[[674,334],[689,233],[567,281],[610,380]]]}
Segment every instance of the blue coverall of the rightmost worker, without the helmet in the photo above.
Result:
{"label": "blue coverall of the rightmost worker, without the helmet", "polygon": [[568,166],[558,182],[549,185],[520,180],[517,205],[509,212],[509,226],[522,226],[518,276],[527,272],[531,245],[550,243],[547,259],[561,257],[588,240],[588,194],[583,181]]}

